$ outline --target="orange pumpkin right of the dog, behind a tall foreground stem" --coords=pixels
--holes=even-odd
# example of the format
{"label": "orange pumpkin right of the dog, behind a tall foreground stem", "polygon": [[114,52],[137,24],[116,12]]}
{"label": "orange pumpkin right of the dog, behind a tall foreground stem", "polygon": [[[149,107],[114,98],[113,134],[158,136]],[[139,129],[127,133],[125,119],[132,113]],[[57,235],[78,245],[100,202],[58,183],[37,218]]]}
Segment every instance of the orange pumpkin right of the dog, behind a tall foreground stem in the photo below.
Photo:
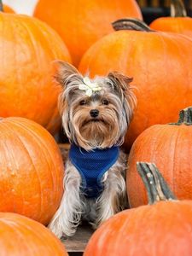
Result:
{"label": "orange pumpkin right of the dog, behind a tall foreground stem", "polygon": [[192,200],[192,108],[175,124],[153,125],[137,137],[129,155],[126,183],[131,207],[147,203],[136,169],[137,161],[154,162],[178,199]]}

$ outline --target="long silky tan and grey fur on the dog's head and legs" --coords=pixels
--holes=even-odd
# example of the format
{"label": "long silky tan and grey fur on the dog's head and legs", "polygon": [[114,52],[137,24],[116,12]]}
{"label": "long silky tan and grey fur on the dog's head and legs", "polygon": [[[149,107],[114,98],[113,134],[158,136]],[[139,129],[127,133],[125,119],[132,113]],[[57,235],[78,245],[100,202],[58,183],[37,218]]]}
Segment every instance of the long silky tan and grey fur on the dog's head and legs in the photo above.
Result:
{"label": "long silky tan and grey fur on the dog's head and legs", "polygon": [[[117,72],[107,77],[96,77],[92,81],[102,87],[91,97],[79,90],[83,76],[72,65],[59,63],[55,79],[63,90],[59,97],[62,125],[70,143],[76,143],[85,150],[120,146],[130,125],[136,106],[136,97],[130,86],[132,79]],[[101,104],[107,98],[109,104]],[[80,101],[89,101],[80,106]],[[99,110],[98,122],[90,117],[91,109]],[[81,177],[70,160],[67,160],[63,181],[64,195],[61,205],[52,218],[49,229],[56,236],[73,236],[81,218],[85,218],[94,228],[113,214],[125,208],[126,155],[120,151],[119,159],[102,177],[104,189],[99,198],[88,199],[81,192]]]}

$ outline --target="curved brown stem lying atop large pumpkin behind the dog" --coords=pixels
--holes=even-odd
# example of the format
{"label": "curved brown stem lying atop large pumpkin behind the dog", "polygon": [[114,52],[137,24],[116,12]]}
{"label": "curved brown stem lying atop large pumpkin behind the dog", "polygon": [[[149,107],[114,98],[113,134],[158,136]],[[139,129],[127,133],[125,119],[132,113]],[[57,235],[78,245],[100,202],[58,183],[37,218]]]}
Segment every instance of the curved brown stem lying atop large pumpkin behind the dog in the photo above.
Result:
{"label": "curved brown stem lying atop large pumpkin behind the dog", "polygon": [[138,20],[136,18],[125,18],[120,20],[115,20],[112,23],[113,29],[115,31],[119,30],[135,30],[143,32],[154,32],[143,20]]}

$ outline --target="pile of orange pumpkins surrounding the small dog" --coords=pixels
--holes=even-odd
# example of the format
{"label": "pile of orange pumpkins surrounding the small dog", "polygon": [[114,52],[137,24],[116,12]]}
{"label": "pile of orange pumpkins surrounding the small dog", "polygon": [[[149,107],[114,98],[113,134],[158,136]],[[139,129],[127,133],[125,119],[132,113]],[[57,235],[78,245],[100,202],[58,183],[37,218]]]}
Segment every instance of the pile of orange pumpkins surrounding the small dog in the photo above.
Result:
{"label": "pile of orange pumpkins surrounding the small dog", "polygon": [[67,255],[45,227],[65,193],[50,135],[61,129],[58,60],[90,77],[125,73],[137,96],[124,143],[131,209],[84,256],[192,254],[192,19],[182,0],[171,6],[147,26],[135,0],[38,0],[34,17],[0,0],[0,254]]}

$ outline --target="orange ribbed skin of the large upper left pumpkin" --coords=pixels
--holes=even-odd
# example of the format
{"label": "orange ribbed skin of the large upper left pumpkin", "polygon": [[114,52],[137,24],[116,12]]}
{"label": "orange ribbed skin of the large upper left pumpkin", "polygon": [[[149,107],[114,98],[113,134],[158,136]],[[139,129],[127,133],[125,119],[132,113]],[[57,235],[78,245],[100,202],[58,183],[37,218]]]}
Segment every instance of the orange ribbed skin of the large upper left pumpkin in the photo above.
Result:
{"label": "orange ribbed skin of the large upper left pumpkin", "polygon": [[0,116],[21,116],[51,133],[61,119],[52,61],[70,61],[61,38],[43,22],[0,12]]}

